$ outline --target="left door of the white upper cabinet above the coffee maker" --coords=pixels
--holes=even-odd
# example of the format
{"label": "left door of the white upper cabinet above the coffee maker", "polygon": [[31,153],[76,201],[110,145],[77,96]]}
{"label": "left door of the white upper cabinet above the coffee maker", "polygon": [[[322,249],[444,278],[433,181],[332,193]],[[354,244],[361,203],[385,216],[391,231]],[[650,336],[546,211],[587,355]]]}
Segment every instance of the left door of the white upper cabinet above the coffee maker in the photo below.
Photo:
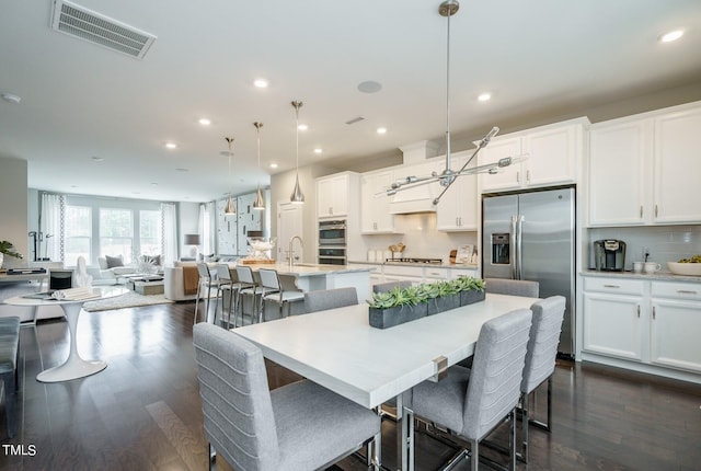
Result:
{"label": "left door of the white upper cabinet above the coffee maker", "polygon": [[642,225],[652,215],[646,195],[651,156],[650,119],[591,128],[589,133],[589,225]]}

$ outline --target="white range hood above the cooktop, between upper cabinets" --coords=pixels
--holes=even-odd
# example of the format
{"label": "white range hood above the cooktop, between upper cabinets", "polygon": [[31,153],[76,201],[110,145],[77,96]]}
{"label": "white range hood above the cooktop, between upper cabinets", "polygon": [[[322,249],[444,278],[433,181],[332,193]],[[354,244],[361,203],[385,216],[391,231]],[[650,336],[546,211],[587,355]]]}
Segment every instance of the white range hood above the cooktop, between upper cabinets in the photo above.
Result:
{"label": "white range hood above the cooktop, between upper cabinets", "polygon": [[[436,171],[436,162],[426,159],[436,157],[438,145],[428,140],[422,140],[412,145],[400,147],[404,154],[403,165],[394,170],[394,180],[403,180],[407,176],[426,176]],[[434,160],[434,159],[432,159]],[[421,185],[399,192],[390,196],[391,215],[411,215],[414,212],[435,212],[434,198],[437,196],[438,183]]]}

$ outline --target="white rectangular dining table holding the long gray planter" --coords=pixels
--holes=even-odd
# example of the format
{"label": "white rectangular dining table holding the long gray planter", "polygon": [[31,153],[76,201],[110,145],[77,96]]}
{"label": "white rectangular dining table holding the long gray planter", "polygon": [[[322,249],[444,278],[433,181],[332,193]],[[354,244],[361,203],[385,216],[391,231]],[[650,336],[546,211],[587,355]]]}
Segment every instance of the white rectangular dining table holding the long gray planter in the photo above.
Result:
{"label": "white rectangular dining table holding the long gray planter", "polygon": [[537,300],[487,294],[484,301],[384,330],[369,325],[368,306],[363,303],[232,332],[257,345],[266,358],[365,407],[379,407],[394,398],[398,469],[411,471],[402,393],[435,379],[441,366],[470,357],[484,322],[530,308]]}

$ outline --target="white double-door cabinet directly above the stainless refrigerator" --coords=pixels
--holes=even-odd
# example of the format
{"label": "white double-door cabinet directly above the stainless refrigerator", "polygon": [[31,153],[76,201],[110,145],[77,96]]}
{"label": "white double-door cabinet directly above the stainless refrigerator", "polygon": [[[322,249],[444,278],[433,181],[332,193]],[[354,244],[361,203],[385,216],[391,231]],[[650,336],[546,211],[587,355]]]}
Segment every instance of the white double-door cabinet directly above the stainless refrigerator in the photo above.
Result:
{"label": "white double-door cabinet directly above the stainless refrigerator", "polygon": [[527,157],[481,176],[482,193],[576,183],[582,161],[586,118],[543,126],[495,138],[480,154],[480,164],[505,157]]}

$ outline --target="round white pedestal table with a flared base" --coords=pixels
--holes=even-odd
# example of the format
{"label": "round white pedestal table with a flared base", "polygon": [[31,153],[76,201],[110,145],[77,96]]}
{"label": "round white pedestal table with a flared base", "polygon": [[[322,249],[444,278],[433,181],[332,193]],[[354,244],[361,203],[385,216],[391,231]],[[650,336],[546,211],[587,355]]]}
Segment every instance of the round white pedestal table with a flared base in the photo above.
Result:
{"label": "round white pedestal table with a flared base", "polygon": [[55,300],[55,299],[34,299],[24,298],[22,296],[15,296],[4,300],[5,305],[12,306],[50,306],[60,305],[68,321],[68,330],[70,331],[70,352],[68,358],[62,365],[54,368],[46,369],[36,376],[37,381],[42,382],[59,382],[70,381],[71,379],[83,378],[85,376],[94,375],[102,371],[107,367],[107,363],[103,360],[84,360],[78,354],[78,347],[76,344],[76,330],[78,328],[78,318],[82,310],[83,303],[88,301],[94,301],[96,299],[113,298],[122,296],[125,292],[129,292],[128,289],[114,286],[99,286],[92,287],[92,292],[96,297],[91,299],[81,300]]}

